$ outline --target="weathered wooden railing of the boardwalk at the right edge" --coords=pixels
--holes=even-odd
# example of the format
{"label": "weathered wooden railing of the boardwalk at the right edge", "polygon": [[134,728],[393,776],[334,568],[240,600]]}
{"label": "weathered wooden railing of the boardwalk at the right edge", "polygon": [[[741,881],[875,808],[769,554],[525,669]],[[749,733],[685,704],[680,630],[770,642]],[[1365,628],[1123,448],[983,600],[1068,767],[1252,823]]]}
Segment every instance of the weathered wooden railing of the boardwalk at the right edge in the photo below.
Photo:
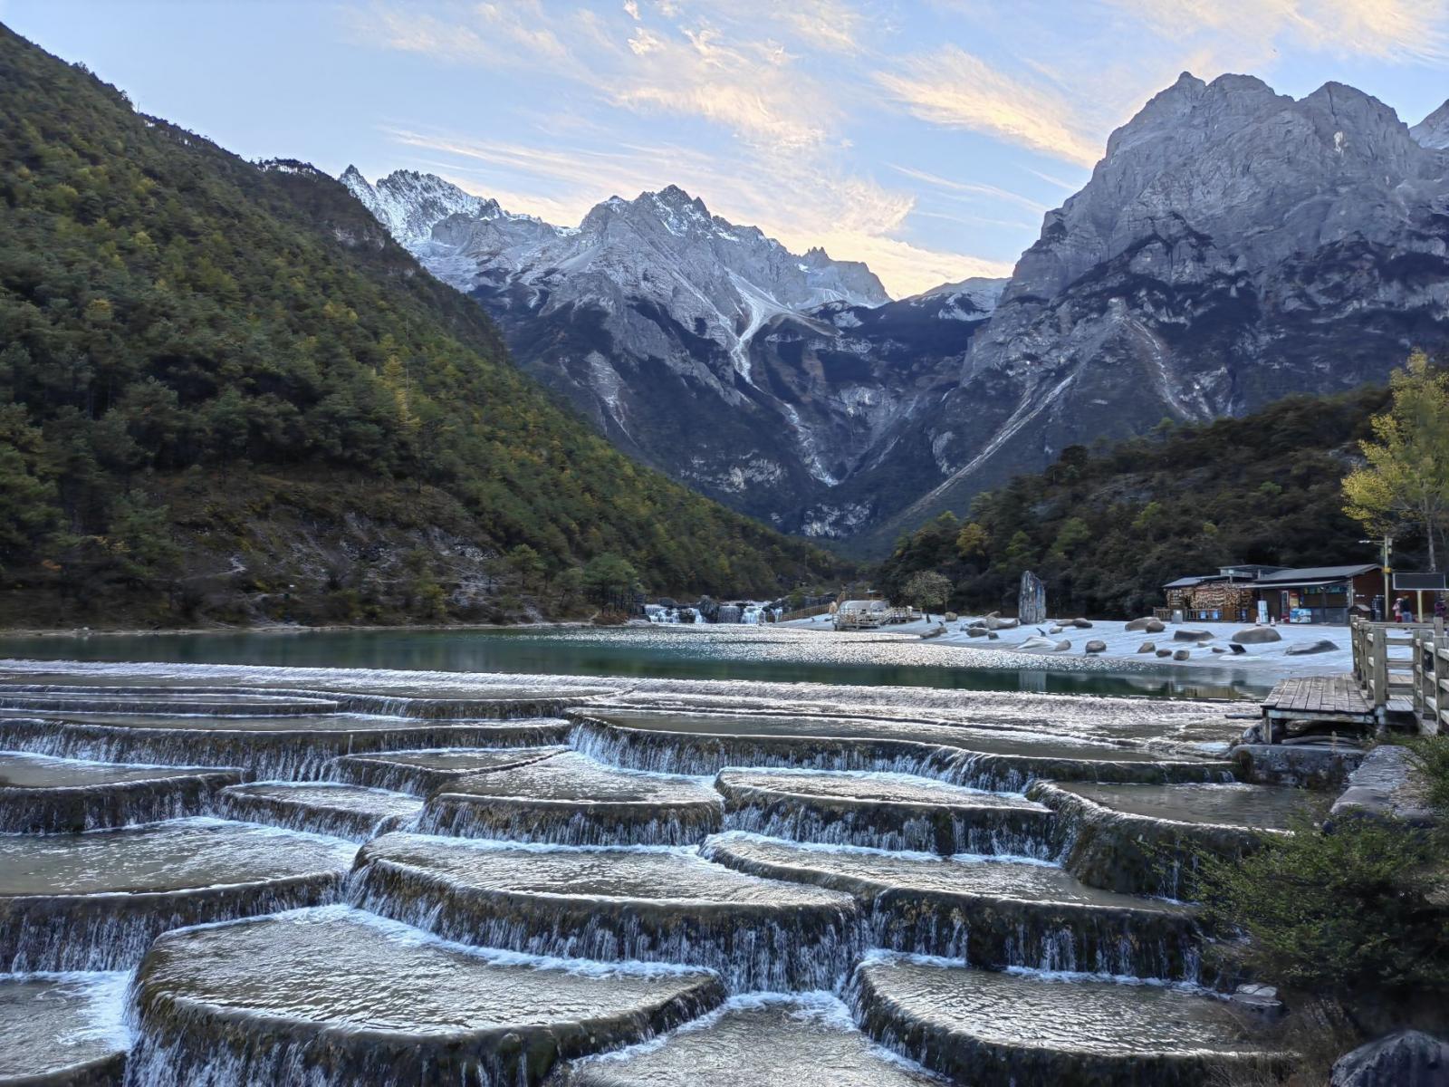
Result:
{"label": "weathered wooden railing of the boardwalk at the right edge", "polygon": [[1353,678],[1375,710],[1411,710],[1421,732],[1449,728],[1449,638],[1433,623],[1350,623]]}

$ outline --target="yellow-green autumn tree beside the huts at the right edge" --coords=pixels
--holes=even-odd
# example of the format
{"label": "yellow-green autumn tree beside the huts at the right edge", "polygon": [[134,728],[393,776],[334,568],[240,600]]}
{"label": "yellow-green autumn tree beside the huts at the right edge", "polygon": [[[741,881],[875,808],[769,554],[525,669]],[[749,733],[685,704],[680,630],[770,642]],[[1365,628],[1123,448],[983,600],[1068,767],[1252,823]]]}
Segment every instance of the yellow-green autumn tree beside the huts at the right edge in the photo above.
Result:
{"label": "yellow-green autumn tree beside the huts at the right edge", "polygon": [[1439,570],[1436,533],[1449,520],[1449,372],[1423,351],[1390,377],[1392,403],[1359,442],[1366,464],[1343,478],[1343,510],[1374,535],[1421,529],[1429,568]]}

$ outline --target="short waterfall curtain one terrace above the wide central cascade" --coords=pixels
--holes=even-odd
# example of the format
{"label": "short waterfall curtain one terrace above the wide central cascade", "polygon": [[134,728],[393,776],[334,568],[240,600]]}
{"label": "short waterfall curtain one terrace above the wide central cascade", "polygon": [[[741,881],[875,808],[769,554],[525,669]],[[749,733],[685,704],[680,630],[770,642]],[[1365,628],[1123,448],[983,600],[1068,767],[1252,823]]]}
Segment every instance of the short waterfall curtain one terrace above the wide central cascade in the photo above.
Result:
{"label": "short waterfall curtain one terrace above the wide central cascade", "polygon": [[722,804],[543,804],[439,793],[417,830],[558,845],[694,845],[723,829]]}

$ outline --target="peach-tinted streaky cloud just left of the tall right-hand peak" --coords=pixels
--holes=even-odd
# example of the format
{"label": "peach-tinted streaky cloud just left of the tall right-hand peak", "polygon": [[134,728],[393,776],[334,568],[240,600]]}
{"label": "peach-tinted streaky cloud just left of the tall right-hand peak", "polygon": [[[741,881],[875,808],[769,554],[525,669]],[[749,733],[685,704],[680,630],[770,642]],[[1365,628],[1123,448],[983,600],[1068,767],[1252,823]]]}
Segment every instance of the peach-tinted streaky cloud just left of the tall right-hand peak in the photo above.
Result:
{"label": "peach-tinted streaky cloud just left of the tall right-hand peak", "polygon": [[984,132],[1078,165],[1101,158],[1095,125],[1062,91],[1007,75],[955,45],[910,57],[875,78],[922,120]]}

